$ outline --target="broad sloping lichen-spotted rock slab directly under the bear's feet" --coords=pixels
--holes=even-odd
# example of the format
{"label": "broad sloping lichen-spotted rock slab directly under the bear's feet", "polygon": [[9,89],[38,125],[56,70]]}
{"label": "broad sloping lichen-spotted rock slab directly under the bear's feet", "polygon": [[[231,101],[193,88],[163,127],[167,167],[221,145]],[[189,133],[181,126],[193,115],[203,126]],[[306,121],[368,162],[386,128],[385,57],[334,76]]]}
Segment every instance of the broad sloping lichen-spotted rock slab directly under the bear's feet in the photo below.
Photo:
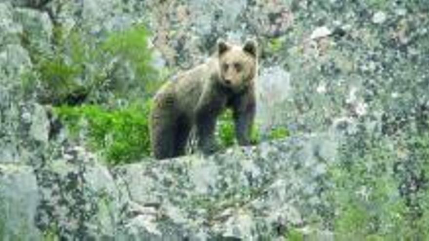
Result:
{"label": "broad sloping lichen-spotted rock slab directly under the bear's feet", "polygon": [[270,239],[290,225],[303,225],[303,216],[325,205],[317,193],[328,185],[327,164],[313,164],[320,147],[312,142],[299,137],[209,158],[135,164],[116,168],[114,175],[140,206],[129,207],[135,210],[130,222],[145,220],[144,232],[159,235],[166,232],[164,225],[176,224],[176,232],[191,240],[201,235]]}

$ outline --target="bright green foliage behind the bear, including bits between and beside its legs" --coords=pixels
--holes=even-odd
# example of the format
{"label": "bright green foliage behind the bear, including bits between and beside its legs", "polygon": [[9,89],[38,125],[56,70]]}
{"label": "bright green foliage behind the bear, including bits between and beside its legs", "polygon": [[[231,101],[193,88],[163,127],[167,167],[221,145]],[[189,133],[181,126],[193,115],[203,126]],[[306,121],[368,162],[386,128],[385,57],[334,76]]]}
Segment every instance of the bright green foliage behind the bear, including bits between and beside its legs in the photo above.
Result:
{"label": "bright green foliage behind the bear, including bits between and beside its legs", "polygon": [[[106,110],[98,105],[80,107],[60,106],[55,108],[59,119],[66,124],[76,138],[80,133],[88,136],[85,140],[94,150],[101,151],[109,164],[131,163],[149,156],[150,137],[148,115],[151,102],[143,106],[132,106],[123,110]],[[218,122],[218,138],[223,148],[235,143],[232,112],[226,111]],[[270,132],[269,139],[288,136],[287,129],[278,128]],[[258,143],[260,136],[254,126],[252,143]]]}

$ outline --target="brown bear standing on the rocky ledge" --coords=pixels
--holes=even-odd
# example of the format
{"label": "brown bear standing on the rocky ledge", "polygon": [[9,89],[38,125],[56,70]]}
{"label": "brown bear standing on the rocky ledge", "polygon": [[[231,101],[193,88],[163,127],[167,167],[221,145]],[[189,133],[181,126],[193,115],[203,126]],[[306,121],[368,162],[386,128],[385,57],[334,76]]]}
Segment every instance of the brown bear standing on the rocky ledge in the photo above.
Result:
{"label": "brown bear standing on the rocky ledge", "polygon": [[205,154],[217,149],[217,117],[231,108],[237,142],[250,144],[254,123],[254,79],[257,74],[254,40],[243,46],[217,41],[217,51],[205,63],[163,85],[154,97],[150,116],[151,146],[156,159],[185,154],[193,127],[197,147]]}

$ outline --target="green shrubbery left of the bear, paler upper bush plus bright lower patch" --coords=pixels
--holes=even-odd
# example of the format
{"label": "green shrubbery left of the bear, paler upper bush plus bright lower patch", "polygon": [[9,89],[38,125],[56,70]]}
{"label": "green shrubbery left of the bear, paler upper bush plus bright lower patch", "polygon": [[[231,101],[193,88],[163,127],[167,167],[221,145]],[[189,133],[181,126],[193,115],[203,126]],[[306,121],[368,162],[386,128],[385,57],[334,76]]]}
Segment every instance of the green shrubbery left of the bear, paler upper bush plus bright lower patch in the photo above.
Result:
{"label": "green shrubbery left of the bear, paler upper bush plus bright lower patch", "polygon": [[[150,65],[148,36],[143,25],[107,33],[101,40],[82,29],[55,26],[52,52],[30,50],[34,70],[22,76],[22,86],[32,91],[38,79],[43,90],[39,101],[59,106],[56,111],[70,132],[77,137],[87,131],[87,144],[101,151],[110,164],[135,161],[150,153],[149,104],[122,110],[72,106],[106,104],[118,97],[135,102],[137,95],[140,100],[151,96],[161,82]],[[130,72],[117,74],[123,69]]]}

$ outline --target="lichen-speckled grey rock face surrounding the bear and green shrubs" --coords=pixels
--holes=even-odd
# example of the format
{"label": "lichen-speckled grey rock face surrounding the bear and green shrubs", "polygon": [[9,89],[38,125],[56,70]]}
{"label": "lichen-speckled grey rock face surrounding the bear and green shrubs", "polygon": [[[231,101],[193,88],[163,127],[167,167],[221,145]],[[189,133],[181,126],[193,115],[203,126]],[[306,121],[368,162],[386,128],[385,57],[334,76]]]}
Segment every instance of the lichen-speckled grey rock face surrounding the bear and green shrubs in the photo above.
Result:
{"label": "lichen-speckled grey rock face surrounding the bear and green shrubs", "polygon": [[[335,212],[322,197],[340,152],[360,154],[383,136],[408,160],[412,150],[396,146],[404,127],[428,127],[425,1],[52,0],[38,8],[43,2],[0,0],[2,240],[275,240],[291,227],[333,240],[307,225]],[[257,121],[294,137],[106,167],[25,92],[30,53],[52,51],[55,22],[94,35],[146,22],[155,65],[174,71],[204,60],[218,37],[256,36]]]}

